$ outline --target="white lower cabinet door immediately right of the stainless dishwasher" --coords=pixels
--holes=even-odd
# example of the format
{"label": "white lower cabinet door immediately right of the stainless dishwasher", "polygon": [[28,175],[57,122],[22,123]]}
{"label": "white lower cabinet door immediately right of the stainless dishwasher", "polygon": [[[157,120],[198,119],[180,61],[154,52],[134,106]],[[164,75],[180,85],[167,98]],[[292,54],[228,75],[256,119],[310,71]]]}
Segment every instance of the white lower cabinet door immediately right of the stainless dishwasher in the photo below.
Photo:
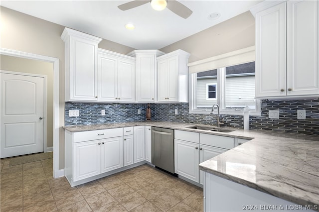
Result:
{"label": "white lower cabinet door immediately right of the stainless dishwasher", "polygon": [[174,140],[175,173],[192,181],[199,181],[199,150],[197,143]]}

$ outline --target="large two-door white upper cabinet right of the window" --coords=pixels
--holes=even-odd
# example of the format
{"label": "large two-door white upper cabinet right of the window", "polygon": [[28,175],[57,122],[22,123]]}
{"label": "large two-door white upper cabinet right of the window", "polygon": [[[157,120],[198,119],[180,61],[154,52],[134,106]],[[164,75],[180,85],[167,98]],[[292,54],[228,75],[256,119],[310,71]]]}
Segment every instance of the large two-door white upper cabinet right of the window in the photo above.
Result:
{"label": "large two-door white upper cabinet right of the window", "polygon": [[256,98],[318,96],[318,1],[264,1],[252,13]]}

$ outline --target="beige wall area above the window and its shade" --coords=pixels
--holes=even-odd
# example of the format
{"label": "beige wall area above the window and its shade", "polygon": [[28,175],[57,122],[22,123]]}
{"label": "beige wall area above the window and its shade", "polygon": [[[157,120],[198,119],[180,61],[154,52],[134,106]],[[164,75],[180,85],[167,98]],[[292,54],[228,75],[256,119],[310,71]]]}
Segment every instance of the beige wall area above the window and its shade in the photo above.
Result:
{"label": "beige wall area above the window and its shade", "polygon": [[229,20],[168,45],[160,51],[189,52],[189,62],[255,45],[255,18],[247,11]]}

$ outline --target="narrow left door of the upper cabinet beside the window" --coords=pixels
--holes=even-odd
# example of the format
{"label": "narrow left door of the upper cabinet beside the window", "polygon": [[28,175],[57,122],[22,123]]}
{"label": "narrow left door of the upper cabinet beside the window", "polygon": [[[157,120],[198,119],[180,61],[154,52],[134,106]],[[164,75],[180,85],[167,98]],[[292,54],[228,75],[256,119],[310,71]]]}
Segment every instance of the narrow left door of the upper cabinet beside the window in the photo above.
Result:
{"label": "narrow left door of the upper cabinet beside the window", "polygon": [[167,101],[167,60],[158,62],[158,102]]}

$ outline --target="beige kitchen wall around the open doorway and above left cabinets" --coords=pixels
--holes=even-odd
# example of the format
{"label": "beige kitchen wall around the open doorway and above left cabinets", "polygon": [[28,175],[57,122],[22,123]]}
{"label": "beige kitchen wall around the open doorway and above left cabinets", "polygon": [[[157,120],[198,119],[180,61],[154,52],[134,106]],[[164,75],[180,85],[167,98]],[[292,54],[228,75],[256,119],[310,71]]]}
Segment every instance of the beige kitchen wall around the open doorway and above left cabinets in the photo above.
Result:
{"label": "beige kitchen wall around the open doorway and above left cabinets", "polygon": [[[60,36],[64,26],[0,6],[1,48],[44,55],[59,59],[59,169],[64,168],[64,43]],[[119,53],[134,49],[102,40],[100,48]]]}

